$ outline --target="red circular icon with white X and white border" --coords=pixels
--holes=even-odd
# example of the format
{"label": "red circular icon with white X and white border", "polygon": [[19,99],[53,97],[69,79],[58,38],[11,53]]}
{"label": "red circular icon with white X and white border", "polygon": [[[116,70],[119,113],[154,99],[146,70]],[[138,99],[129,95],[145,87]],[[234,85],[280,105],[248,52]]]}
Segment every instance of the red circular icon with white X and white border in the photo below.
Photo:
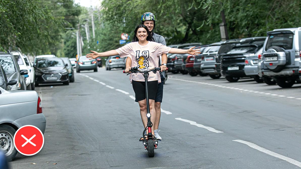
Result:
{"label": "red circular icon with white X and white border", "polygon": [[42,131],[33,125],[20,127],[14,135],[14,146],[23,155],[35,155],[44,145]]}

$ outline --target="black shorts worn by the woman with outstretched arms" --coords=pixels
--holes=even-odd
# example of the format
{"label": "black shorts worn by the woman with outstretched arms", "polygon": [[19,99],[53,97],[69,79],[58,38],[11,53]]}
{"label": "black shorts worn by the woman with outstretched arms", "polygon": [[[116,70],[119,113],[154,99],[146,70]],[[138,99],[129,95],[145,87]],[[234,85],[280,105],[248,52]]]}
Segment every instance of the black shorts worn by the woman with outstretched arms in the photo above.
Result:
{"label": "black shorts worn by the woman with outstretched arms", "polygon": [[[135,92],[135,101],[146,99],[145,96],[145,82],[132,80],[133,89]],[[158,81],[148,81],[148,99],[155,100],[158,89]]]}

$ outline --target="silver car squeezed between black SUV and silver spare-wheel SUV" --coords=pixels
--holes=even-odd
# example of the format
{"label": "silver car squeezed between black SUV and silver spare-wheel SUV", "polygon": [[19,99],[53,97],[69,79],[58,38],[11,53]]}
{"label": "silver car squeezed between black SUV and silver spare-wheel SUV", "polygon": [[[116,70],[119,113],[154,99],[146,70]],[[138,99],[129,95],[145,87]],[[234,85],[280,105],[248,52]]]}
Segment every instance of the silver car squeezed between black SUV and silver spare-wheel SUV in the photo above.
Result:
{"label": "silver car squeezed between black SUV and silver spare-wheel SUV", "polygon": [[262,48],[253,56],[247,57],[245,60],[244,72],[247,76],[251,76],[257,83],[262,83],[263,80],[258,75],[258,55],[262,54]]}

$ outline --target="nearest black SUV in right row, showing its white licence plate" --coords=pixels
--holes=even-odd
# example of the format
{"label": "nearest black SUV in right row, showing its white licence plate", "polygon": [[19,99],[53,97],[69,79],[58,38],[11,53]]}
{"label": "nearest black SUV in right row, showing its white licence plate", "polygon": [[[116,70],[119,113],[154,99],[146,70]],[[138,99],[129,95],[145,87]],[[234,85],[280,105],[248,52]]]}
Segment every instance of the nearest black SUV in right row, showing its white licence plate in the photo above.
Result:
{"label": "nearest black SUV in right row, showing its white licence plate", "polygon": [[241,77],[248,77],[244,72],[245,60],[259,51],[263,43],[264,41],[256,41],[252,44],[243,44],[232,48],[231,51],[222,56],[221,74],[229,82],[236,82]]}

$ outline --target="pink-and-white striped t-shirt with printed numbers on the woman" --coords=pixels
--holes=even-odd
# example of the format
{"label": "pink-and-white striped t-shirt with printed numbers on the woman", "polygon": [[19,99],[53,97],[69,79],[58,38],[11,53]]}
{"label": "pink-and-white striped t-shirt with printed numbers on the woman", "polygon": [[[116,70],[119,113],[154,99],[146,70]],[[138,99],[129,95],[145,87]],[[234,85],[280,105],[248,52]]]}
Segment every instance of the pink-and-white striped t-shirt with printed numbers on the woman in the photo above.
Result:
{"label": "pink-and-white striped t-shirt with printed numbers on the woman", "polygon": [[[159,67],[159,56],[162,54],[168,54],[170,47],[162,45],[157,42],[148,41],[145,46],[139,45],[138,42],[131,42],[121,48],[116,49],[120,57],[130,57],[132,59],[132,67],[138,67],[141,71],[147,69],[153,69]],[[131,82],[144,81],[142,73],[132,73],[129,76]],[[147,81],[158,81],[161,83],[160,73],[156,74],[149,72]]]}

